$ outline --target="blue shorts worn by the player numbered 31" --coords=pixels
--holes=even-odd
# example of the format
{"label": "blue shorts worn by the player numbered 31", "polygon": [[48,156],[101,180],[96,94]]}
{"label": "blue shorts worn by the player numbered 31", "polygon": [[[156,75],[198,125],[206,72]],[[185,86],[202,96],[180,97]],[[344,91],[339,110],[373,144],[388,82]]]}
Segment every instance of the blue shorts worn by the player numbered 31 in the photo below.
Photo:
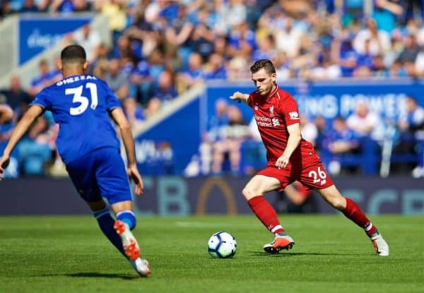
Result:
{"label": "blue shorts worn by the player numbered 31", "polygon": [[85,201],[131,201],[129,179],[117,148],[93,150],[66,164],[66,170]]}

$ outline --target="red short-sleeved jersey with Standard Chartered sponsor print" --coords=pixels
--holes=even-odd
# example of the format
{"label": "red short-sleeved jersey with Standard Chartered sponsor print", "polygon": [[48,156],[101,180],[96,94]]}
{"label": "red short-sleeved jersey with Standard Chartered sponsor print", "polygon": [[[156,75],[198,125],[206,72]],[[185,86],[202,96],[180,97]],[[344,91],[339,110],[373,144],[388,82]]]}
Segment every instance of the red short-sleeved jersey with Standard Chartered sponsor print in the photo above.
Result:
{"label": "red short-sleeved jersey with Standard Chartered sponsor print", "polygon": [[[269,162],[276,162],[287,146],[287,126],[300,123],[298,104],[288,92],[278,87],[268,97],[262,97],[257,91],[251,92],[247,104],[253,109],[266,158]],[[300,162],[302,157],[310,157],[313,153],[312,143],[302,138],[290,162]]]}

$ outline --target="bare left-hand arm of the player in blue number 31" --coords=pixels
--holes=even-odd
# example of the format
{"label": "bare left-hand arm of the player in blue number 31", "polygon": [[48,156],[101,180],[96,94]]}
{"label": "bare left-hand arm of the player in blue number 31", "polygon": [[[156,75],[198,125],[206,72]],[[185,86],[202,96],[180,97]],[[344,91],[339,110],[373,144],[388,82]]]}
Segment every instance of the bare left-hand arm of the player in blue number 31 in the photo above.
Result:
{"label": "bare left-hand arm of the player in blue number 31", "polygon": [[13,149],[18,144],[20,138],[28,131],[30,125],[33,124],[35,119],[40,116],[43,112],[42,107],[34,105],[31,106],[30,109],[23,115],[22,119],[20,119],[18,125],[13,129],[11,138],[9,138],[6,148],[3,151],[3,157],[0,159],[0,180],[4,169],[6,169],[9,158],[11,157],[11,153]]}

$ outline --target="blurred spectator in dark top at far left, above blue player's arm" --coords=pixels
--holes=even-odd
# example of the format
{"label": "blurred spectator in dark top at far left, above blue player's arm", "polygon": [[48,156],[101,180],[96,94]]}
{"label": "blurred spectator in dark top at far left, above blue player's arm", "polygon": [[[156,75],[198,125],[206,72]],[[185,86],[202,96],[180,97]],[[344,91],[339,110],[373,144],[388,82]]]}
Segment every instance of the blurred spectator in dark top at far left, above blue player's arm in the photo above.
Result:
{"label": "blurred spectator in dark top at far left, above blue player's arm", "polygon": [[22,88],[19,76],[11,76],[9,88],[0,91],[0,103],[8,104],[15,112],[17,119],[26,112],[32,100],[33,98]]}

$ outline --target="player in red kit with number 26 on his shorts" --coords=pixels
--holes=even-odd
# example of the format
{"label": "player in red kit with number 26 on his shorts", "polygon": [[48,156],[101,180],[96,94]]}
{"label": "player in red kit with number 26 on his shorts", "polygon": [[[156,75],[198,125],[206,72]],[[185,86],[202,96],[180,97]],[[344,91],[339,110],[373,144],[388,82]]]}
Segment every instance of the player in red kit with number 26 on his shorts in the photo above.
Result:
{"label": "player in red kit with number 26 on his shorts", "polygon": [[230,99],[252,107],[266,148],[266,168],[252,177],[242,191],[254,214],[275,235],[271,243],[264,245],[264,250],[278,253],[281,249],[291,249],[295,244],[278,221],[276,211],[265,200],[264,193],[283,190],[293,181],[300,181],[363,228],[379,256],[388,256],[389,246],[377,227],[372,225],[355,201],[341,195],[312,143],[300,135],[298,105],[288,92],[278,88],[272,62],[267,59],[256,61],[250,71],[257,90],[250,94],[234,92]]}

